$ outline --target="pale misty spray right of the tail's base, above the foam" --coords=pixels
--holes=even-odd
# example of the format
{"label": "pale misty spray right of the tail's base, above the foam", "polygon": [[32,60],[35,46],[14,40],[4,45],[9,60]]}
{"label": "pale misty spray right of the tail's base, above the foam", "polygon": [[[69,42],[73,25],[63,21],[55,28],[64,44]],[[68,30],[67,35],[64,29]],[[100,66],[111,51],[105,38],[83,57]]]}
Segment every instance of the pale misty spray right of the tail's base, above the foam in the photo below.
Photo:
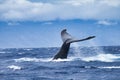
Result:
{"label": "pale misty spray right of the tail's base, above the foam", "polygon": [[[90,44],[93,44],[90,43]],[[95,44],[94,44],[95,45]],[[83,57],[90,57],[90,56],[95,56],[99,54],[103,54],[104,51],[102,50],[101,47],[99,46],[92,46],[92,47],[80,47],[79,44],[73,43],[73,51],[74,51],[74,56],[83,58]]]}

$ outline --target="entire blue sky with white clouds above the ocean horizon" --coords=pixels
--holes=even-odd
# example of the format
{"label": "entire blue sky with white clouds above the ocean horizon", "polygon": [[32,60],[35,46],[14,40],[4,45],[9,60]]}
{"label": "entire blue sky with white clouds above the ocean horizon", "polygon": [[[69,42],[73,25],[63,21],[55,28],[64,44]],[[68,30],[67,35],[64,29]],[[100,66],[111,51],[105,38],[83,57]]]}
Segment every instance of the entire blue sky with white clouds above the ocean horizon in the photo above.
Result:
{"label": "entire blue sky with white clouds above the ocean horizon", "polygon": [[96,38],[79,46],[120,45],[120,0],[0,0],[0,48],[60,47],[60,32]]}

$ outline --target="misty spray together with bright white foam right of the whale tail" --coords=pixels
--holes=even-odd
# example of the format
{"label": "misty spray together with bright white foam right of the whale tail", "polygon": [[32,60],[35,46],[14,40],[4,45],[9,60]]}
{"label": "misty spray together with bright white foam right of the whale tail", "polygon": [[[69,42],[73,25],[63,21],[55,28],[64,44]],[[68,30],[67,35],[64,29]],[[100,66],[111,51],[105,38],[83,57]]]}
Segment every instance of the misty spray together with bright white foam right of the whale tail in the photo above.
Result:
{"label": "misty spray together with bright white foam right of the whale tail", "polygon": [[[91,45],[96,45],[95,42],[89,41]],[[102,47],[80,47],[77,43],[73,44],[74,57],[83,61],[102,61],[102,62],[118,62],[120,61],[120,55],[114,55],[105,53]]]}

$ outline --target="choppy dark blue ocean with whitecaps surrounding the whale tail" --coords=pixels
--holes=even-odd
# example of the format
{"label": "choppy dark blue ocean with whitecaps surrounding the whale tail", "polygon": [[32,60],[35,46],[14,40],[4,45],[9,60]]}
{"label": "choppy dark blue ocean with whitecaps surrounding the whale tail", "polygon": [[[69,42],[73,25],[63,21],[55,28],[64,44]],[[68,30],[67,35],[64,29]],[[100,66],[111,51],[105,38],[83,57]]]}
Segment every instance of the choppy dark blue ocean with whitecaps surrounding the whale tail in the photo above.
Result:
{"label": "choppy dark blue ocean with whitecaps surrounding the whale tail", "polygon": [[0,80],[120,80],[120,46],[0,49]]}

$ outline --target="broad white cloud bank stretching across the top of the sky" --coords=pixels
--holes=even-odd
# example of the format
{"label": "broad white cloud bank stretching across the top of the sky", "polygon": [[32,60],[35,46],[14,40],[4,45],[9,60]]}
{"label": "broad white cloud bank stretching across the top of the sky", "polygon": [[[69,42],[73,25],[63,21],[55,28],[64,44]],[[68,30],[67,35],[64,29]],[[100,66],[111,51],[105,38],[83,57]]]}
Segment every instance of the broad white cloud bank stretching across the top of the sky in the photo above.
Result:
{"label": "broad white cloud bank stretching across the top of the sky", "polygon": [[119,0],[0,0],[1,21],[120,20]]}

